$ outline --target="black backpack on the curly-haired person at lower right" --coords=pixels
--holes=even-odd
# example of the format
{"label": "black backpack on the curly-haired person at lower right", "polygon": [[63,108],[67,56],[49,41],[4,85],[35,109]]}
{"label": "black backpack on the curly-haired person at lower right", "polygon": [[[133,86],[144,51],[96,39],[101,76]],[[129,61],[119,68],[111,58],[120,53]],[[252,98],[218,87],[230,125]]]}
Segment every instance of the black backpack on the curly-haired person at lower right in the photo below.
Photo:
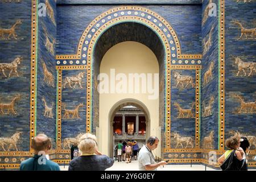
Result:
{"label": "black backpack on the curly-haired person at lower right", "polygon": [[228,158],[221,164],[222,171],[245,171],[247,170],[245,159],[236,158],[236,150],[233,150]]}

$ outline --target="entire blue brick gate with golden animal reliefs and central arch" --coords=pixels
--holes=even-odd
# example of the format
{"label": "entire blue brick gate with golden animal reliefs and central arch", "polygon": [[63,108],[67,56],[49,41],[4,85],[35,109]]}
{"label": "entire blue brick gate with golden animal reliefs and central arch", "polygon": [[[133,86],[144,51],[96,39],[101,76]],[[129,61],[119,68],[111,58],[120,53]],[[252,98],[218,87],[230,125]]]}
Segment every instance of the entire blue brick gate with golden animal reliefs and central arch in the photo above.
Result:
{"label": "entire blue brick gate with golden animal reliefs and central arch", "polygon": [[119,140],[156,136],[158,158],[214,169],[241,135],[256,168],[256,1],[1,0],[0,12],[0,170],[40,133],[59,165],[93,133],[111,158]]}

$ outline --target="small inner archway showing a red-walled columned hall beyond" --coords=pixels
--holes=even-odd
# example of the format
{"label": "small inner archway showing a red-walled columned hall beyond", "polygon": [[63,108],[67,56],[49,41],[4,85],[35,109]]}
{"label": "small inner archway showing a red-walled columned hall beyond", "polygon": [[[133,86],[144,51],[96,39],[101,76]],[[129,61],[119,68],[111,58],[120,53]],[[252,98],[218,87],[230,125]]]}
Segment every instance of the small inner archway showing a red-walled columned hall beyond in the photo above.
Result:
{"label": "small inner archway showing a red-walled columned hall beyond", "polygon": [[116,146],[119,141],[137,142],[139,148],[145,144],[148,138],[147,131],[150,131],[150,116],[145,106],[139,101],[123,100],[123,104],[116,105],[116,108],[110,113],[110,138],[113,138],[113,156],[117,158]]}

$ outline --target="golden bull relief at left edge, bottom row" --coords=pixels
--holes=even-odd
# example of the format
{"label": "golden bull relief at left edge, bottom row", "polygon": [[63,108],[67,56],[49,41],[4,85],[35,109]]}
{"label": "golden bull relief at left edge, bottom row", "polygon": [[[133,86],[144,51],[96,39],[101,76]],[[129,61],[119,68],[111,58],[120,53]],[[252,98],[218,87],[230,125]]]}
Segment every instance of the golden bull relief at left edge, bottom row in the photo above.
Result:
{"label": "golden bull relief at left edge, bottom row", "polygon": [[16,132],[11,137],[0,138],[0,146],[2,147],[3,151],[6,151],[5,146],[9,146],[7,151],[10,151],[10,149],[13,147],[15,147],[16,151],[19,151],[17,148],[17,143],[20,138],[20,134],[22,134],[22,132]]}

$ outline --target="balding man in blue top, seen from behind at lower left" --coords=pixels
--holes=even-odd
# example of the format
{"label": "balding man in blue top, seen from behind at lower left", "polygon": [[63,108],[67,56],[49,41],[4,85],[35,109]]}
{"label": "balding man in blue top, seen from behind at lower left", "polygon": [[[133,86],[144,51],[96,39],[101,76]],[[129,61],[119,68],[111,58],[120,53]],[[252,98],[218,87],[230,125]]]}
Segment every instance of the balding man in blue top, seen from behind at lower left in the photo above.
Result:
{"label": "balding man in blue top, seen from behind at lower left", "polygon": [[46,135],[39,134],[32,139],[31,148],[35,155],[20,163],[20,171],[60,171],[57,163],[46,158],[48,150],[51,149],[51,140]]}

